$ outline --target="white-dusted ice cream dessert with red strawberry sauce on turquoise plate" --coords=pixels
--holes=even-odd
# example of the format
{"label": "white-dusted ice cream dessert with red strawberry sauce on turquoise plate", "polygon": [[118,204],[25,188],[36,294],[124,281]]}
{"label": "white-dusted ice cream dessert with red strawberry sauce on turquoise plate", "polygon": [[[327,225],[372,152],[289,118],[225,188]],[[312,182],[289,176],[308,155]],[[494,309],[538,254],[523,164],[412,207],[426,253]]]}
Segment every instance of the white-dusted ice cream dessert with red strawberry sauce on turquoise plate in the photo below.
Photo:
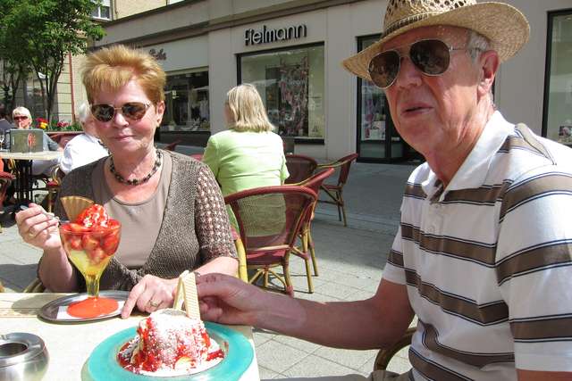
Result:
{"label": "white-dusted ice cream dessert with red strawberry sauce on turquoise plate", "polygon": [[198,373],[218,364],[223,357],[201,320],[172,309],[153,312],[141,320],[137,335],[117,354],[124,369],[155,377]]}

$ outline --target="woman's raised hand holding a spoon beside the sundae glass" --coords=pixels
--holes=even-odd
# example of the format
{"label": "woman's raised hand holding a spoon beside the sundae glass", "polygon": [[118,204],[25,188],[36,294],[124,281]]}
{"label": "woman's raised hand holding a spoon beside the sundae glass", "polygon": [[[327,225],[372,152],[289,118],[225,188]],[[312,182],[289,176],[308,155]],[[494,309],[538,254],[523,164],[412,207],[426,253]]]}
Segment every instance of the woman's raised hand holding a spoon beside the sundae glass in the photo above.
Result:
{"label": "woman's raised hand holding a spoon beside the sundae glass", "polygon": [[62,240],[58,232],[58,220],[47,215],[44,208],[36,203],[30,203],[25,211],[16,213],[18,233],[28,244],[42,250],[62,248]]}

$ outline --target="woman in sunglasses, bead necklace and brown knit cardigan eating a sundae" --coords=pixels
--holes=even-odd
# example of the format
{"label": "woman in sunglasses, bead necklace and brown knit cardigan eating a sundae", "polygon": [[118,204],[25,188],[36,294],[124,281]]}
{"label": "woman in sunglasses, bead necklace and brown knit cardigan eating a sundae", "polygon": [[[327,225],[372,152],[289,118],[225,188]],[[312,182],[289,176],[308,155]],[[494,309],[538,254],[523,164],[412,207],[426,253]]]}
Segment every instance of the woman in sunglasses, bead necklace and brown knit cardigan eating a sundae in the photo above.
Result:
{"label": "woman in sunglasses, bead necklace and brown knit cardigan eating a sundae", "polygon": [[[223,196],[206,164],[156,149],[164,113],[165,74],[147,53],[126,46],[86,58],[82,75],[97,136],[110,155],[72,170],[61,196],[80,195],[104,205],[122,223],[117,253],[105,269],[102,290],[128,290],[122,317],[170,307],[178,276],[238,269]],[[55,214],[66,218],[62,203]],[[84,291],[67,260],[57,221],[35,204],[16,214],[23,240],[44,250],[38,277],[52,291]]]}

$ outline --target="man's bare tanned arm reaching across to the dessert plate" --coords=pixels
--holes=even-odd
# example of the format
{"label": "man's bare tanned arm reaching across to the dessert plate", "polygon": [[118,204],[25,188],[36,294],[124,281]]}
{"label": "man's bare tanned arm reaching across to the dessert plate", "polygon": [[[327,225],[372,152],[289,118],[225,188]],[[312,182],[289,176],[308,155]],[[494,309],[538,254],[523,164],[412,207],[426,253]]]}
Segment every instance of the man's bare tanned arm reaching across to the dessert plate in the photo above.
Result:
{"label": "man's bare tanned arm reaching across to the dessert plate", "polygon": [[311,302],[208,274],[198,279],[198,295],[204,319],[262,327],[339,348],[389,346],[400,339],[414,315],[406,286],[386,280],[365,301]]}

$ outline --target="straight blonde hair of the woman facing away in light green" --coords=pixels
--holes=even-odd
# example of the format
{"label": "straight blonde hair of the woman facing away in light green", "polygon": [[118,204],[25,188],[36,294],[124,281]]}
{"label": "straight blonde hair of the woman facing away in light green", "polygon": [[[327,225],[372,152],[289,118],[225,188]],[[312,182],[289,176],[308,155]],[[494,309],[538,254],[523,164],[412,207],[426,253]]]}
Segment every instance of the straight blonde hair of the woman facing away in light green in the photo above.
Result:
{"label": "straight blonde hair of the woman facing away in light green", "polygon": [[235,131],[265,132],[272,131],[274,126],[268,120],[265,105],[258,94],[257,87],[243,83],[232,87],[226,93],[226,104],[232,114],[229,128]]}

